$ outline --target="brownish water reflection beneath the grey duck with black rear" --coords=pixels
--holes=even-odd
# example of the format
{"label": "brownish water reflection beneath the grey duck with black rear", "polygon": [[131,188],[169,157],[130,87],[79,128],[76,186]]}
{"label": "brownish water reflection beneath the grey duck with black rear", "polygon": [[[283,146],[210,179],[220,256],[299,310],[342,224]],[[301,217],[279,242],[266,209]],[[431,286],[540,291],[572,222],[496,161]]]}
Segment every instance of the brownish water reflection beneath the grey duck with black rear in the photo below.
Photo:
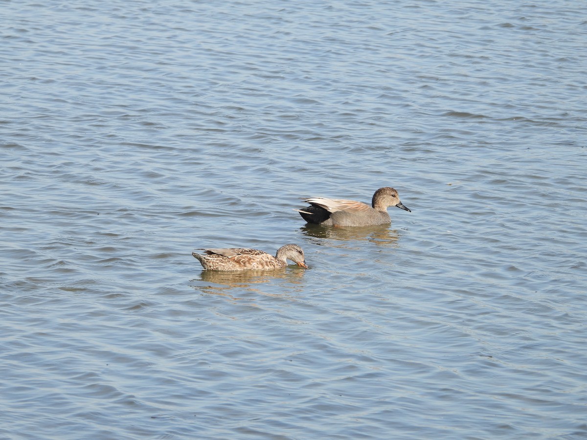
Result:
{"label": "brownish water reflection beneath the grey duck with black rear", "polygon": [[331,238],[345,241],[366,240],[379,245],[394,245],[399,238],[397,229],[389,229],[389,225],[344,227],[307,224],[302,226],[300,231],[303,235],[313,238]]}

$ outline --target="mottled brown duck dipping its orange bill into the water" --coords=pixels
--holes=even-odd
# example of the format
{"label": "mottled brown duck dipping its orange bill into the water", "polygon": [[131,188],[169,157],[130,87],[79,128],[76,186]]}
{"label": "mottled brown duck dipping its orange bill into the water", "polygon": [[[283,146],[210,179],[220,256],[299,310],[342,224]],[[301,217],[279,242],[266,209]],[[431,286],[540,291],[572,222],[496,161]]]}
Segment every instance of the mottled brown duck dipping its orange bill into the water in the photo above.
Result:
{"label": "mottled brown duck dipping its orange bill into the water", "polygon": [[205,255],[192,252],[202,267],[208,270],[283,269],[292,260],[301,268],[308,269],[303,251],[298,245],[285,245],[277,249],[275,256],[257,249],[202,249]]}

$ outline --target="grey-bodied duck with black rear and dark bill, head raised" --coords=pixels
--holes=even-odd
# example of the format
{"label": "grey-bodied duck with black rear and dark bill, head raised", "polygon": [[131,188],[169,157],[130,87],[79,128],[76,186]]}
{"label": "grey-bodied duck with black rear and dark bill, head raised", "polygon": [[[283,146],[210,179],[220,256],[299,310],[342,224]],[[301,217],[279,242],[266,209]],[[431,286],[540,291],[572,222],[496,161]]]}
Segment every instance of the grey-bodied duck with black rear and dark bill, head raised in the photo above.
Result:
{"label": "grey-bodied duck with black rear and dark bill, head raised", "polygon": [[398,207],[411,212],[400,202],[397,191],[390,187],[375,191],[372,207],[354,200],[323,197],[312,197],[304,201],[311,206],[296,211],[306,222],[325,226],[373,226],[391,223],[387,207]]}

